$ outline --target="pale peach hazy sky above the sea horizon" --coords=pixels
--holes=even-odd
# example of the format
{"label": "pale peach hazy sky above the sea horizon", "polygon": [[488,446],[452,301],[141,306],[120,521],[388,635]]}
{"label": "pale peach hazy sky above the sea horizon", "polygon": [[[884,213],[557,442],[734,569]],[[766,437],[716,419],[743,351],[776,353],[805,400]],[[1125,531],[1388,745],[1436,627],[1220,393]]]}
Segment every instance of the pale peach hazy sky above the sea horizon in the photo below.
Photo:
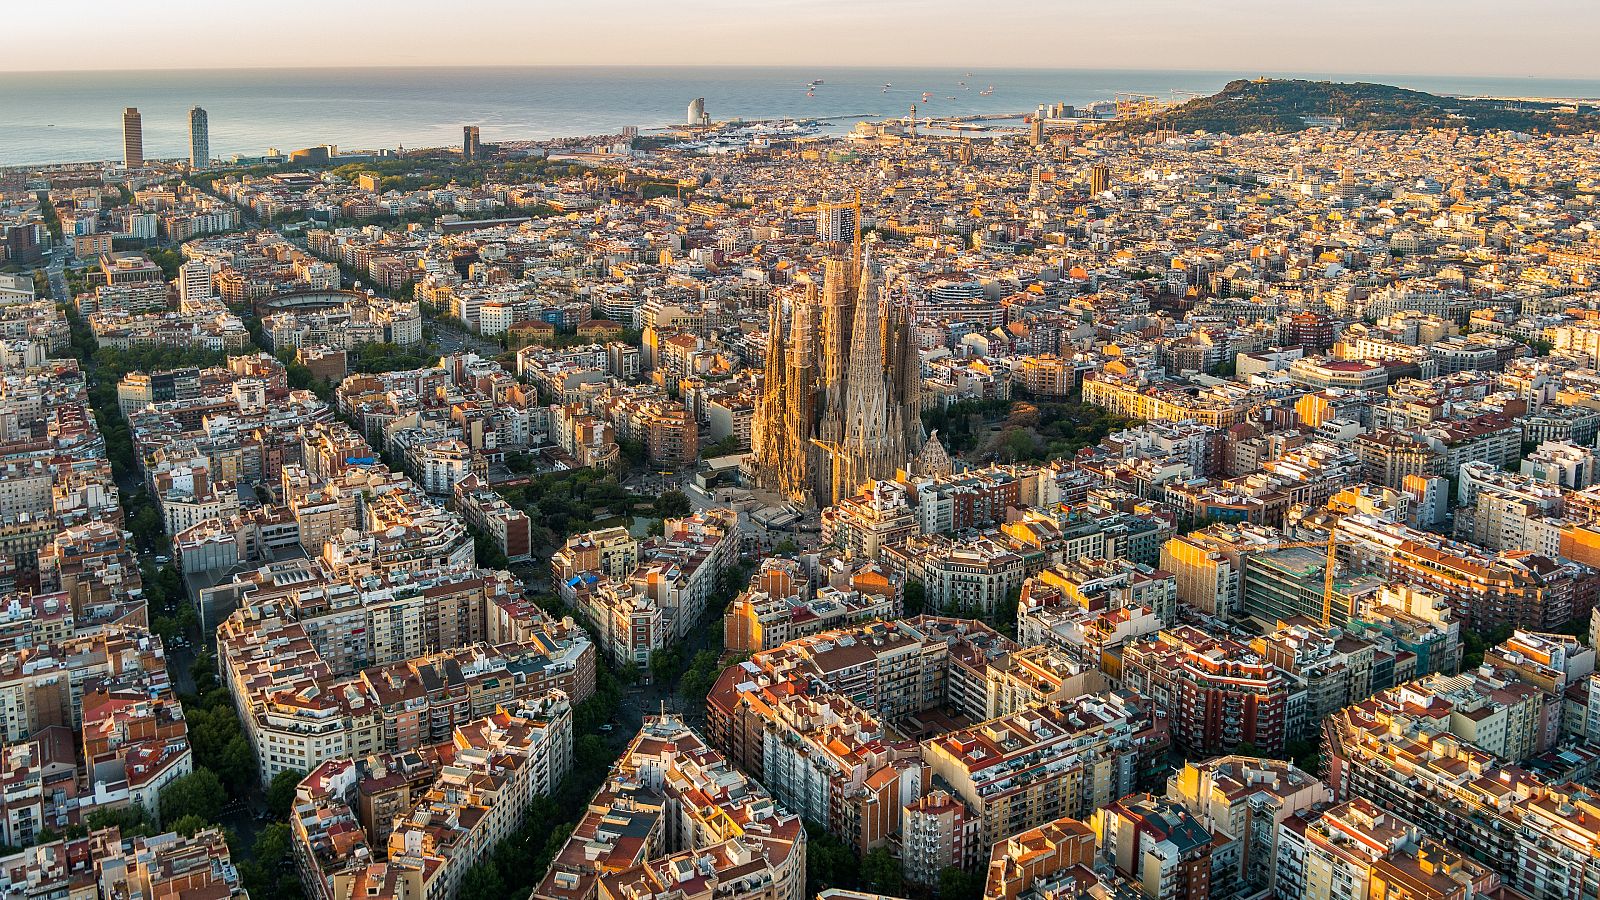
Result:
{"label": "pale peach hazy sky above the sea horizon", "polygon": [[[8,2],[0,70],[963,66],[1600,77],[1594,0]],[[5,101],[0,98],[0,112]]]}

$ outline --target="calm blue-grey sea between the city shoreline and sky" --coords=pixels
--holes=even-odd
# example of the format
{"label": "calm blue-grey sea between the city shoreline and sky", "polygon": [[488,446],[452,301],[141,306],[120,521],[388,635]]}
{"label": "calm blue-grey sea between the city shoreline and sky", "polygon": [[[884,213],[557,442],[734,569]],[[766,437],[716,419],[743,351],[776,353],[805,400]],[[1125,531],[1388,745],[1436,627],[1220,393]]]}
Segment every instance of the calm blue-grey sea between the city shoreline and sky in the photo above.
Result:
{"label": "calm blue-grey sea between the city shoreline and sky", "polygon": [[[0,167],[122,157],[122,110],[142,114],[144,154],[189,154],[189,107],[205,107],[211,155],[262,155],[614,135],[685,120],[706,98],[714,120],[1022,114],[1117,93],[1182,99],[1234,78],[1381,82],[1443,94],[1600,98],[1600,78],[1485,78],[1157,69],[794,69],[794,67],[406,67],[141,72],[0,72]],[[818,82],[810,86],[811,82]],[[808,90],[810,86],[810,90]],[[984,93],[994,88],[990,93]],[[923,102],[923,93],[930,99]]]}

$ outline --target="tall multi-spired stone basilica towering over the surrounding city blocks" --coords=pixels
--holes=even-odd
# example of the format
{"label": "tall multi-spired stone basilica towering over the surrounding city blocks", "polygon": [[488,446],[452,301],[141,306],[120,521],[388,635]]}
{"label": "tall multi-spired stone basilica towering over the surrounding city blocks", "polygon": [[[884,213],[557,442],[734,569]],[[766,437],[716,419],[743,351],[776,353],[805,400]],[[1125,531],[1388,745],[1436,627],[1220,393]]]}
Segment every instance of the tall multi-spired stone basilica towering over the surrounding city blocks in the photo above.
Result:
{"label": "tall multi-spired stone basilica towering over the surrounding city blocks", "polygon": [[830,506],[901,469],[949,471],[922,428],[915,303],[896,272],[829,258],[822,283],[774,296],[750,442],[760,487]]}

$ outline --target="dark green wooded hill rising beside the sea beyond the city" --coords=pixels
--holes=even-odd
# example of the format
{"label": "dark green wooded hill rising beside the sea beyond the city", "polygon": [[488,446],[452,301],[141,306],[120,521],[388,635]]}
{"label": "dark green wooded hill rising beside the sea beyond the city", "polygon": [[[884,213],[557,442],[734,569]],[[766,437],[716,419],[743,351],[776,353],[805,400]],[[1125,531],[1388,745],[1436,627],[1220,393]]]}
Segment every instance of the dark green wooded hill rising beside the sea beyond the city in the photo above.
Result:
{"label": "dark green wooded hill rising beside the sea beyond the city", "polygon": [[1541,135],[1600,131],[1600,112],[1555,102],[1462,99],[1366,82],[1256,78],[1136,119],[1130,131],[1301,131],[1341,119],[1352,131],[1411,128],[1509,130]]}

